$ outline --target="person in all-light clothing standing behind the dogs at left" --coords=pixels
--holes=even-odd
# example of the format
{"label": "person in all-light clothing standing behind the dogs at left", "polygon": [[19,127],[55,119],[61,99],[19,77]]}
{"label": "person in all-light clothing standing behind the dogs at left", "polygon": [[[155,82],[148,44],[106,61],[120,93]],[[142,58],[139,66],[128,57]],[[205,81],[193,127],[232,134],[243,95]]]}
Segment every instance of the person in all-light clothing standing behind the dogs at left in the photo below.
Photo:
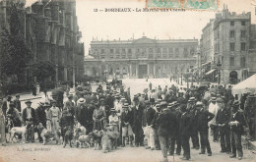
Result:
{"label": "person in all-light clothing standing behind the dogs at left", "polygon": [[[67,107],[68,108],[68,107]],[[70,111],[71,109],[64,109]],[[60,110],[56,107],[56,101],[52,101],[52,107],[50,108],[50,119],[51,119],[51,131],[56,133],[59,130],[59,120],[61,117]]]}

